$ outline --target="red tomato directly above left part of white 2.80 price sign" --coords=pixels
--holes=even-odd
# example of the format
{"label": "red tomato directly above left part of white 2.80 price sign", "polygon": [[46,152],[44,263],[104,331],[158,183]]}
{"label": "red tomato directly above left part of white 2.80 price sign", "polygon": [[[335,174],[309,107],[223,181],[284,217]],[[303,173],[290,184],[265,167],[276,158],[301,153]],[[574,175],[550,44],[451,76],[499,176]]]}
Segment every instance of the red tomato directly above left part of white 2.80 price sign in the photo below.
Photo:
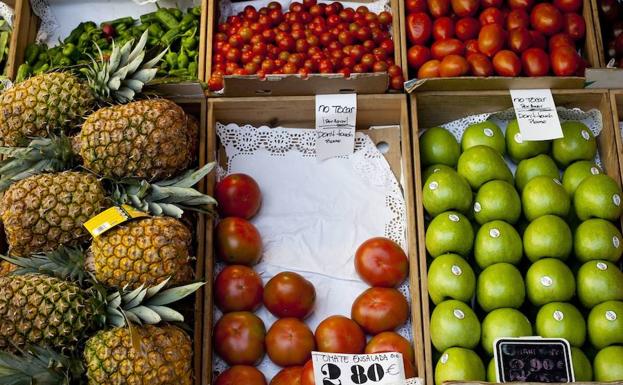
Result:
{"label": "red tomato directly above left part of white 2.80 price sign", "polygon": [[316,347],[327,353],[360,354],[366,346],[366,336],[350,318],[334,315],[316,328]]}

